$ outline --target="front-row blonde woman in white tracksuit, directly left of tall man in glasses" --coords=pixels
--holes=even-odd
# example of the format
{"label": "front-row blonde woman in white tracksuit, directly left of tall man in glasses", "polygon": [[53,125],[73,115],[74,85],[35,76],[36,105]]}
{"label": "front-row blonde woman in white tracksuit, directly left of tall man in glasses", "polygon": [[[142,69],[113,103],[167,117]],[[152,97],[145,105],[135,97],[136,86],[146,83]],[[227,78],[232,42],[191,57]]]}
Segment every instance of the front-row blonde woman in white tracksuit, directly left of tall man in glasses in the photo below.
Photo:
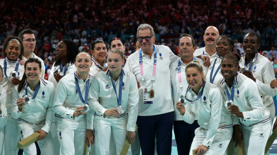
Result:
{"label": "front-row blonde woman in white tracksuit, directly left of tall man in glasses", "polygon": [[[95,74],[90,88],[89,105],[95,111],[95,151],[108,155],[113,133],[116,154],[119,155],[125,140],[135,140],[138,115],[138,88],[136,78],[123,70],[123,53],[112,50],[108,56],[108,70]],[[129,115],[127,115],[129,101]],[[131,154],[131,148],[128,150]]]}

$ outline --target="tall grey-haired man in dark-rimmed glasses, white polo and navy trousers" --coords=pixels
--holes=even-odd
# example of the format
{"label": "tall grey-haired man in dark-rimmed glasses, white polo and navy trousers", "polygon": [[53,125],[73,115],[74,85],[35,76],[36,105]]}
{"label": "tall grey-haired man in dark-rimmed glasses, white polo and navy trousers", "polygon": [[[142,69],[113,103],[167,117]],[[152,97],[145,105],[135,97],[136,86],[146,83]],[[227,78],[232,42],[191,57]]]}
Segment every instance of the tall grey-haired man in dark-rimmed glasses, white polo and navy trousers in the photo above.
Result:
{"label": "tall grey-haired man in dark-rimmed glasses, white polo and navy trousers", "polygon": [[[169,65],[179,57],[169,47],[155,45],[155,33],[149,24],[138,26],[141,49],[127,59],[125,69],[136,76],[141,87],[138,105],[138,136],[142,155],[153,155],[155,136],[157,154],[171,154],[173,101]],[[146,89],[147,92],[144,92]]]}

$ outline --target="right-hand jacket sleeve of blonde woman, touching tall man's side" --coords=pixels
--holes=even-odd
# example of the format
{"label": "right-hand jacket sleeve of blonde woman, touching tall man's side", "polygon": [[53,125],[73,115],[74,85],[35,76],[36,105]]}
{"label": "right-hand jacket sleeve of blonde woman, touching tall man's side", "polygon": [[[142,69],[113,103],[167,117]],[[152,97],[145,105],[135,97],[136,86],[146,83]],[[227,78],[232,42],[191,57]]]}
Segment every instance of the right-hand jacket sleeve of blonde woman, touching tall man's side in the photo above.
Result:
{"label": "right-hand jacket sleeve of blonde woman, touching tall man's side", "polygon": [[127,131],[135,132],[136,120],[138,117],[138,86],[136,77],[130,74],[130,90],[129,90],[129,116],[127,123]]}

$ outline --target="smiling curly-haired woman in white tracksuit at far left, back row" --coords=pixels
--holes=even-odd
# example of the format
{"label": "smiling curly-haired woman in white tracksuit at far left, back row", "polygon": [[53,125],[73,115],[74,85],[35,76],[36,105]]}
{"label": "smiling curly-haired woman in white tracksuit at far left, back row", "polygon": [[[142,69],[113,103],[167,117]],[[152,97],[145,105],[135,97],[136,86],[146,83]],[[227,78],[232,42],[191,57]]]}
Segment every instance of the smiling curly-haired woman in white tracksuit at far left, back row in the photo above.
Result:
{"label": "smiling curly-haired woman in white tracksuit at far left, back row", "polygon": [[[4,59],[0,60],[0,65],[3,67],[3,80],[0,85],[7,92],[7,118],[8,122],[5,127],[0,127],[0,154],[3,154],[3,145],[5,143],[5,154],[17,154],[19,142],[19,134],[17,129],[17,121],[10,114],[13,87],[19,83],[24,74],[24,65],[21,65],[24,49],[22,41],[13,36],[9,36],[4,43]],[[10,75],[12,72],[17,72],[18,76]],[[15,73],[14,72],[14,73]],[[5,141],[5,142],[4,142]]]}

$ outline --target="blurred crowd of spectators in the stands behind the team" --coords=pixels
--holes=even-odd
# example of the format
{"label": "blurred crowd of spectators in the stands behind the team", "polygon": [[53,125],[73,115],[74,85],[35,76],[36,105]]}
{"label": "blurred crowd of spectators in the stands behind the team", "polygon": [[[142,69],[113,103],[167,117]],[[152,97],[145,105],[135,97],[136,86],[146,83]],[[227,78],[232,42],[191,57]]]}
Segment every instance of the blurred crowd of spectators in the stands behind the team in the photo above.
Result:
{"label": "blurred crowd of spectators in the stands behind the team", "polygon": [[[204,31],[210,25],[217,27],[220,34],[230,35],[236,43],[234,52],[242,54],[243,35],[250,31],[260,34],[266,45],[274,45],[276,8],[277,0],[2,0],[0,52],[7,36],[17,36],[31,28],[38,40],[34,53],[49,68],[56,60],[55,49],[62,39],[73,40],[79,51],[90,52],[94,40],[104,40],[109,47],[109,35],[122,38],[129,34],[123,40],[125,54],[129,55],[135,49],[137,27],[148,23],[161,35],[155,44],[169,46],[176,55],[180,33],[191,34],[197,48],[201,48],[205,46]],[[277,73],[277,51],[274,47],[272,50],[262,54],[267,54]]]}

